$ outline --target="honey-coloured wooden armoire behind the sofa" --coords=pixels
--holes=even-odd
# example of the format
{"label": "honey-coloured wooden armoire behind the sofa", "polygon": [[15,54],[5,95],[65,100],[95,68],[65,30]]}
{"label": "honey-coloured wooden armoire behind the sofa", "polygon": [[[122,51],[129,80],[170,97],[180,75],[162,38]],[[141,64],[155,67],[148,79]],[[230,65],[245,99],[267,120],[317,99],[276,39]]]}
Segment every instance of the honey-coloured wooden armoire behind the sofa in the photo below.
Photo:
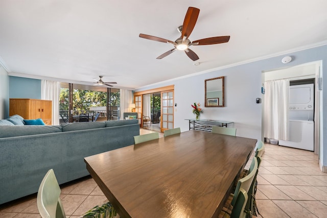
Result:
{"label": "honey-coloured wooden armoire behind the sofa", "polygon": [[18,114],[24,119],[41,118],[45,125],[52,125],[52,101],[38,99],[10,99],[9,116]]}

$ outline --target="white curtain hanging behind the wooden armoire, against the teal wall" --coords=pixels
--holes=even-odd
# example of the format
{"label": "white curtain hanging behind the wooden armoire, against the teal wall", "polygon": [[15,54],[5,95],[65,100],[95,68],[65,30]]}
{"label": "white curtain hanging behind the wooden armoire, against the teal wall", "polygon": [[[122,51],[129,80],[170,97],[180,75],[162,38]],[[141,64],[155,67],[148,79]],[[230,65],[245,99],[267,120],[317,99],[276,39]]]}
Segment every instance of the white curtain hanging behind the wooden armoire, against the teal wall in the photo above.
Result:
{"label": "white curtain hanging behind the wooden armoire, against the teal wall", "polygon": [[52,101],[52,125],[59,125],[60,82],[42,80],[41,99]]}

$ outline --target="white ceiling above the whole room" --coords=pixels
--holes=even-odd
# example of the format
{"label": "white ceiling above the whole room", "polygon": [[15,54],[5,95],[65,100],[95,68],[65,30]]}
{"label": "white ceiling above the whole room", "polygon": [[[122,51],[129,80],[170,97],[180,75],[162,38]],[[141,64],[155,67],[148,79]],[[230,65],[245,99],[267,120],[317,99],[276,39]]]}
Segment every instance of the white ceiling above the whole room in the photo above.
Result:
{"label": "white ceiling above the whole room", "polygon": [[[175,41],[189,6],[200,9],[191,41],[230,35],[229,42],[193,46],[196,62],[181,51],[157,60],[173,46],[138,34]],[[102,75],[134,89],[326,44],[326,9],[325,0],[1,0],[0,63],[13,76]]]}

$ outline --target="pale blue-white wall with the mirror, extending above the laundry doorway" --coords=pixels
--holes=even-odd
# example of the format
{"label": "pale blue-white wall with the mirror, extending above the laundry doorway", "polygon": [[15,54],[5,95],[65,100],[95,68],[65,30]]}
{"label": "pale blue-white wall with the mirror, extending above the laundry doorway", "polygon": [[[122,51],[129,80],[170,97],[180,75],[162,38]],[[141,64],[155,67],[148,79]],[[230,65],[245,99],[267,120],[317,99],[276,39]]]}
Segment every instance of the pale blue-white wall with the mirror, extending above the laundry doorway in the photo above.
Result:
{"label": "pale blue-white wall with the mirror, extending above the laundry doorway", "polygon": [[[162,82],[139,88],[136,91],[175,85],[174,96],[177,107],[175,107],[174,113],[174,127],[180,127],[181,131],[189,130],[188,121],[184,119],[195,117],[192,113],[191,104],[200,102],[203,107],[203,113],[201,113],[200,118],[235,122],[234,127],[237,128],[237,136],[263,140],[262,105],[255,103],[256,98],[263,99],[261,94],[262,72],[287,68],[307,62],[326,60],[326,52],[327,45],[324,45],[305,51],[216,69],[200,75]],[[293,61],[283,64],[281,60],[286,55],[292,56]],[[327,60],[324,62],[324,65],[326,65],[326,62]],[[327,66],[323,68],[325,74],[327,74],[326,68]],[[204,80],[221,76],[225,76],[225,107],[204,108]],[[327,100],[324,101],[327,102]],[[326,108],[323,108],[323,111],[327,111],[327,105]],[[327,165],[327,155],[324,155],[324,157],[326,157],[324,165]]]}

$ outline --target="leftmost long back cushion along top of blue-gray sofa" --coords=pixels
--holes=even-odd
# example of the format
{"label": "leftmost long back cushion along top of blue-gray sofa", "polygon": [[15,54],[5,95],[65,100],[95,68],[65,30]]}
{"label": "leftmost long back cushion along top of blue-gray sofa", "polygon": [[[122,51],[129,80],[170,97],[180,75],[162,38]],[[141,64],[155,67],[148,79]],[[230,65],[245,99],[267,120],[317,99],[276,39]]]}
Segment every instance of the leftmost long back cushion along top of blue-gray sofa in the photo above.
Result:
{"label": "leftmost long back cushion along top of blue-gray sofa", "polygon": [[0,126],[0,138],[62,132],[61,126]]}

